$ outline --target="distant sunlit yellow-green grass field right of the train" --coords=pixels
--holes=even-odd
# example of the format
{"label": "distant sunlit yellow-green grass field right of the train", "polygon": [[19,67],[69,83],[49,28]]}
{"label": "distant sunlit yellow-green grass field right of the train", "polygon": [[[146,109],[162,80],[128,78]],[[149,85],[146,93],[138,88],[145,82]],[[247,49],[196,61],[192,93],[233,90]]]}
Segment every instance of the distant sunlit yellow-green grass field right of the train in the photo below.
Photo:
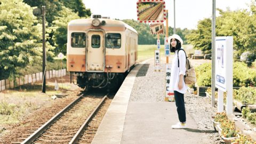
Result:
{"label": "distant sunlit yellow-green grass field right of the train", "polygon": [[[186,53],[194,53],[192,45],[183,45]],[[157,50],[157,45],[138,45],[138,60],[141,62],[150,58],[154,58],[154,51]],[[165,57],[164,45],[160,46],[161,58]],[[173,53],[171,53],[173,54]]]}

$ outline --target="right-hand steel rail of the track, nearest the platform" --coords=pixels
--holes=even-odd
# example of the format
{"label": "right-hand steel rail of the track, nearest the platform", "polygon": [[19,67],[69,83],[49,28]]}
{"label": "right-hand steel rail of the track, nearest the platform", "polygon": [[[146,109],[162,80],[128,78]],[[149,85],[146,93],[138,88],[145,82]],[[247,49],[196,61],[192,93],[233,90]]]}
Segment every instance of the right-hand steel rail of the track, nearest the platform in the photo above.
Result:
{"label": "right-hand steel rail of the track, nearest the platform", "polygon": [[[109,93],[108,93],[109,94]],[[86,126],[89,124],[89,122],[91,121],[91,119],[93,118],[93,116],[97,113],[97,111],[99,110],[100,106],[103,104],[103,102],[108,98],[107,95],[105,95],[105,97],[102,98],[102,100],[100,101],[99,105],[92,111],[91,115],[85,120],[85,122],[83,123],[83,125],[80,127],[80,129],[77,131],[77,133],[74,135],[74,137],[71,139],[71,141],[69,142],[69,144],[75,144],[78,139],[81,137],[81,135],[83,134]]]}

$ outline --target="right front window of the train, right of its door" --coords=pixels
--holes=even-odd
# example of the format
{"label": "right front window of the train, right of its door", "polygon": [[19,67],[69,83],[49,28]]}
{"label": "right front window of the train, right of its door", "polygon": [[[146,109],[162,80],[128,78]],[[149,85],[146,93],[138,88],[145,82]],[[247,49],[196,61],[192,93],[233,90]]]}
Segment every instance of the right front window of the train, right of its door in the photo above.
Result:
{"label": "right front window of the train, right of its door", "polygon": [[106,47],[118,49],[121,47],[121,34],[108,33],[106,35]]}

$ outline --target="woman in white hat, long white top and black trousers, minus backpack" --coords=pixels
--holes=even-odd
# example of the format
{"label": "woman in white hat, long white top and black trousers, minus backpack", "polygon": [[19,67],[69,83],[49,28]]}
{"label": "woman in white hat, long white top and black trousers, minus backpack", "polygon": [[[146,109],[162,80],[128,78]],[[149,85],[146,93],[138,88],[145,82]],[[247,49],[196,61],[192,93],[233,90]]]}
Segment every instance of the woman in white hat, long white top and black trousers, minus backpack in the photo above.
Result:
{"label": "woman in white hat, long white top and black trousers, minus backpack", "polygon": [[168,41],[170,42],[171,52],[174,52],[169,90],[174,91],[174,99],[180,121],[179,123],[172,125],[172,129],[186,129],[186,109],[184,101],[184,93],[188,89],[184,82],[184,75],[186,72],[186,54],[185,51],[180,50],[183,49],[181,47],[183,41],[179,35],[174,34],[170,36]]}

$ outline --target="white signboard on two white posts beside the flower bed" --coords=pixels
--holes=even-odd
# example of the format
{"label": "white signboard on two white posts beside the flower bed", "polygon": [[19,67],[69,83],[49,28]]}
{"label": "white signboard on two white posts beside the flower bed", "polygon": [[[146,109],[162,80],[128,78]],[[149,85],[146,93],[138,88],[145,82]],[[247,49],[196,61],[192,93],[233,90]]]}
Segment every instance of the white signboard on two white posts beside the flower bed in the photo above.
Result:
{"label": "white signboard on two white posts beside the flower bed", "polygon": [[226,112],[233,113],[233,37],[215,38],[215,87],[218,88],[218,112],[223,111],[223,92],[227,92]]}

